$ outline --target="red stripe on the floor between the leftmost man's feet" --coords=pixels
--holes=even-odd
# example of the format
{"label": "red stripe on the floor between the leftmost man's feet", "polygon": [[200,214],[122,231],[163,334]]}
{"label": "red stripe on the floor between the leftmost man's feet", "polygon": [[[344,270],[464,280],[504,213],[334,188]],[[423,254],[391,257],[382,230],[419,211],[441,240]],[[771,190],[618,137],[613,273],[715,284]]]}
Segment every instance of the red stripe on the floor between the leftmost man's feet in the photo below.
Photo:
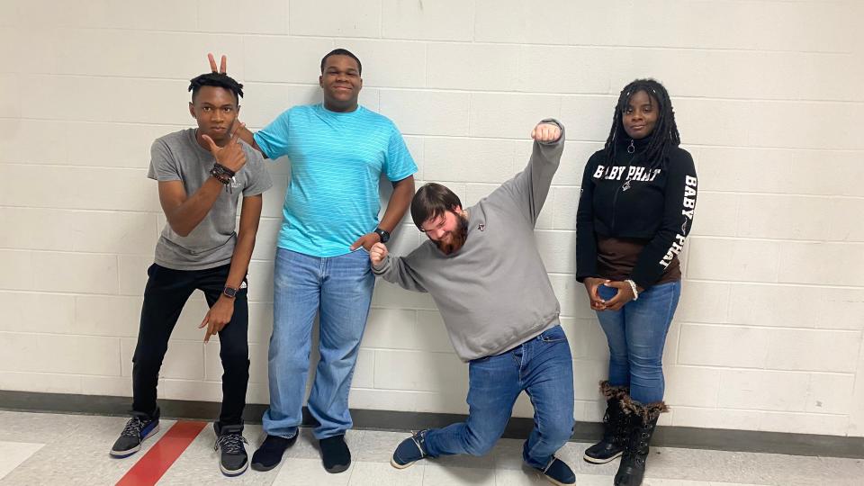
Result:
{"label": "red stripe on the floor between the leftmost man's feet", "polygon": [[178,421],[117,482],[118,486],[152,486],[183,454],[207,422]]}

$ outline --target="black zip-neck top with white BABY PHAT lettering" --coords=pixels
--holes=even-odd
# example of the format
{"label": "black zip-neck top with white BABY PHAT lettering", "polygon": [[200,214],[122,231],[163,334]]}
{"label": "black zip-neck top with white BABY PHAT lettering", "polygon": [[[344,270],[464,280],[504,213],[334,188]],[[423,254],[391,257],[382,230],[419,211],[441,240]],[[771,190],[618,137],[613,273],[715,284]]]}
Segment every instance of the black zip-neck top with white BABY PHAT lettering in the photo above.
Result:
{"label": "black zip-neck top with white BABY PHAT lettering", "polygon": [[647,289],[655,284],[681,251],[693,225],[697,177],[693,157],[670,148],[665,164],[644,159],[649,139],[631,139],[617,147],[609,166],[606,149],[585,165],[576,211],[576,278],[597,275],[598,238],[644,241],[630,278]]}

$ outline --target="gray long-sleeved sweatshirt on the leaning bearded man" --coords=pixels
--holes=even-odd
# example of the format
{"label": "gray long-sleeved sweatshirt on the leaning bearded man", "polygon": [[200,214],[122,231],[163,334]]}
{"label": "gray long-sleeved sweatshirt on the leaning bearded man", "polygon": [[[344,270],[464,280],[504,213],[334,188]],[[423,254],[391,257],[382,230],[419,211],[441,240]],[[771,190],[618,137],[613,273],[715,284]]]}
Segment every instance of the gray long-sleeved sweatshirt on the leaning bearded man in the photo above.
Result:
{"label": "gray long-sleeved sweatshirt on the leaning bearded man", "polygon": [[468,208],[464,246],[445,255],[431,240],[388,255],[375,275],[432,296],[463,361],[499,355],[558,324],[561,308],[540,259],[534,227],[564,148],[534,143],[528,166]]}

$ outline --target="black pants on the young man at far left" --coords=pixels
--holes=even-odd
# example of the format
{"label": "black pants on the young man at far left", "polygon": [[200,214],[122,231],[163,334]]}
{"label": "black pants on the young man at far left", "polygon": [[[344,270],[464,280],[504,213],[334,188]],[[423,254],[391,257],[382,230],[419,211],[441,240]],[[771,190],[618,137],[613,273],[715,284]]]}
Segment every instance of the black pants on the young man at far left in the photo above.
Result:
{"label": "black pants on the young man at far left", "polygon": [[[132,356],[133,411],[146,413],[150,417],[157,413],[159,368],[180,311],[183,311],[183,306],[195,289],[202,291],[207,305],[212,306],[225,288],[229,267],[172,270],[153,264],[148,268],[138,345]],[[234,314],[228,325],[219,332],[219,356],[222,360],[222,410],[219,421],[223,426],[243,423],[249,382],[248,329],[247,290],[240,289],[234,301]]]}

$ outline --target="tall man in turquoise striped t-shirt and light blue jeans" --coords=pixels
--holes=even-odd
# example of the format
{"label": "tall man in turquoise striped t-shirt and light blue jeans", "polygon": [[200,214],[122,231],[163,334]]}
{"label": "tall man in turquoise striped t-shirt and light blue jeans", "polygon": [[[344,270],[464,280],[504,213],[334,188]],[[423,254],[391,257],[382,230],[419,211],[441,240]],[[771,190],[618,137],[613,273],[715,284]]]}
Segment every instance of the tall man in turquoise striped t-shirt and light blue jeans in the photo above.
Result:
{"label": "tall man in turquoise striped t-shirt and light blue jeans", "polygon": [[[254,136],[239,131],[266,157],[291,160],[275,257],[267,437],[252,456],[259,471],[279,464],[296,440],[316,314],[320,362],[308,402],[320,424],[314,434],[325,469],[340,473],[351,464],[348,391],[374,288],[367,250],[399,224],[417,171],[393,122],[357,103],[361,70],[354,54],[335,49],[321,59],[324,103],[294,106]],[[382,174],[393,192],[379,222]]]}

